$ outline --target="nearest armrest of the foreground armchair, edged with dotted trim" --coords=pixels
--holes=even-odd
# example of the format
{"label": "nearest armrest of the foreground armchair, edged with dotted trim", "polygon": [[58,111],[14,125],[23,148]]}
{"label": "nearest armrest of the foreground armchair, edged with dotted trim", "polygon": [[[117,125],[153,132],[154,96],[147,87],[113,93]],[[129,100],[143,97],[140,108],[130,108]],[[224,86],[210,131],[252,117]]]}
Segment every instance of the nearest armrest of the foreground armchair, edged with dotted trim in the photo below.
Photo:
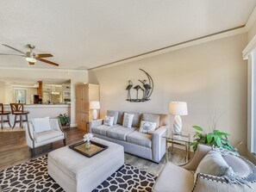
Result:
{"label": "nearest armrest of the foreground armchair, edged with dotted trim", "polygon": [[250,188],[246,184],[240,183],[228,183],[224,177],[215,177],[203,173],[197,174],[197,180],[194,185],[193,192],[201,191],[225,191],[225,192],[234,192],[234,191],[255,191],[255,184],[251,183]]}

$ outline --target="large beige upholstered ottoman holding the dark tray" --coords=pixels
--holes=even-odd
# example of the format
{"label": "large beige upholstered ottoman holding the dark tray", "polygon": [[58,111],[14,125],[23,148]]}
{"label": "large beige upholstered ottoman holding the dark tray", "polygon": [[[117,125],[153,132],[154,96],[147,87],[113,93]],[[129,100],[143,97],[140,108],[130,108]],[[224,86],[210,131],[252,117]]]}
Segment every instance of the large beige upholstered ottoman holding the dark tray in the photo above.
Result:
{"label": "large beige upholstered ottoman holding the dark tray", "polygon": [[48,174],[66,192],[91,191],[124,164],[123,146],[103,139],[93,140],[109,147],[91,158],[68,146],[49,152]]}

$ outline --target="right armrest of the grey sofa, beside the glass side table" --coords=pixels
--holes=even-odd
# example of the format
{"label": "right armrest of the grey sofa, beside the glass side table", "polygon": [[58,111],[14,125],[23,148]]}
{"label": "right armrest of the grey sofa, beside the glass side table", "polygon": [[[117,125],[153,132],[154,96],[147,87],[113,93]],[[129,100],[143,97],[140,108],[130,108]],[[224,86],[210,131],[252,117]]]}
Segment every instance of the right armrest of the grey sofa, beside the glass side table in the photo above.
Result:
{"label": "right armrest of the grey sofa, beside the glass side table", "polygon": [[163,134],[165,134],[167,130],[167,126],[159,127],[157,130],[152,132],[152,156],[153,161],[158,162],[165,154],[165,138],[163,138]]}

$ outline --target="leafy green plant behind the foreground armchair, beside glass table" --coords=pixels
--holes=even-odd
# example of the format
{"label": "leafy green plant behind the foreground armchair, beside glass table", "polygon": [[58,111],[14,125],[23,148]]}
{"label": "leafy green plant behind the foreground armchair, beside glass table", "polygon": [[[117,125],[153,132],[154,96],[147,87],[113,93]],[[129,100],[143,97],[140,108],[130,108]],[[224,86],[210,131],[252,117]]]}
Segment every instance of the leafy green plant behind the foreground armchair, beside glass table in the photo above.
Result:
{"label": "leafy green plant behind the foreground armchair, beside glass table", "polygon": [[194,152],[197,150],[197,145],[199,143],[210,146],[219,146],[231,152],[235,152],[234,147],[228,141],[229,133],[224,133],[216,129],[212,133],[205,133],[202,127],[193,126],[193,128],[197,130],[194,135],[194,142],[190,144],[190,146],[193,147]]}

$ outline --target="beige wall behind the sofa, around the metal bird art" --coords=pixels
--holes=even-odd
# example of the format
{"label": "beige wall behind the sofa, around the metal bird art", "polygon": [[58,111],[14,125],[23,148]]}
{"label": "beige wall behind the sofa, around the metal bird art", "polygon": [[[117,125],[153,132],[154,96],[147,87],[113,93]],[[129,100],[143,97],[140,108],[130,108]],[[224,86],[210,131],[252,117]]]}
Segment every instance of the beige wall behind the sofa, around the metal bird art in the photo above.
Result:
{"label": "beige wall behind the sofa, around the metal bird art", "polygon": [[[189,110],[182,117],[184,130],[193,131],[193,125],[209,127],[209,116],[222,114],[217,128],[231,133],[231,142],[237,145],[247,139],[247,62],[241,57],[246,45],[247,34],[239,34],[89,71],[89,82],[100,84],[102,116],[107,109],[168,113],[169,102],[183,101]],[[140,68],[153,77],[151,101],[127,102],[128,79],[137,84],[146,78]]]}

